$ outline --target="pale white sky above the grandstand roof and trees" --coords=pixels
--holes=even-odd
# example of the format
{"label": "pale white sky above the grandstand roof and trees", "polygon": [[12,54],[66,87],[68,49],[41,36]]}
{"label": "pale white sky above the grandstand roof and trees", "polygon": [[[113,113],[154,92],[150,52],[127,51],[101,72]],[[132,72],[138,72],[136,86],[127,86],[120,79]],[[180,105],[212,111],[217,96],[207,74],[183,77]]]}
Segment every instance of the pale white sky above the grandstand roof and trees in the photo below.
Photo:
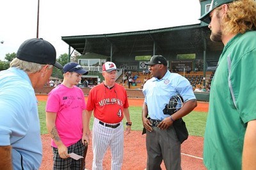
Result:
{"label": "pale white sky above the grandstand roof and trees", "polygon": [[[0,60],[36,38],[36,0],[0,2]],[[143,31],[200,23],[199,0],[40,0],[39,38],[68,53],[61,36]]]}

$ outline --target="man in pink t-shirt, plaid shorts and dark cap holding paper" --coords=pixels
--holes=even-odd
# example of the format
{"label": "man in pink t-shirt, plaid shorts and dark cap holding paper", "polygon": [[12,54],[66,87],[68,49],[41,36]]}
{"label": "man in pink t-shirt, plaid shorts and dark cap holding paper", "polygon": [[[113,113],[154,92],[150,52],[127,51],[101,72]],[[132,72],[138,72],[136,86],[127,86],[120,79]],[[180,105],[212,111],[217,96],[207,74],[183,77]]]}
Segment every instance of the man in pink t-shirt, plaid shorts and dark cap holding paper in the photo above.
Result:
{"label": "man in pink t-shirt, plaid shorts and dark cap holding paper", "polygon": [[[83,132],[86,104],[83,90],[76,87],[82,74],[88,74],[76,62],[63,67],[63,82],[51,90],[46,103],[46,125],[54,154],[53,169],[80,169],[83,159],[70,158],[68,153],[83,156],[88,136]],[[84,169],[84,167],[83,167]]]}

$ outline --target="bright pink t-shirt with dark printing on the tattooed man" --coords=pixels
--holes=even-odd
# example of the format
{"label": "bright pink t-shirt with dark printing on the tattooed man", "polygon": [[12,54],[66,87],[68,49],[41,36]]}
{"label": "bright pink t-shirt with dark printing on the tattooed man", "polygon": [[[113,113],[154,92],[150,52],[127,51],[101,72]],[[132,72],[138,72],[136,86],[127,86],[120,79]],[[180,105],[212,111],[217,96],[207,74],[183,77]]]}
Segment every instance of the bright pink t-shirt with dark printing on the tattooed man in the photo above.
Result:
{"label": "bright pink t-shirt with dark printing on the tattooed man", "polygon": [[[45,111],[57,113],[56,129],[65,146],[73,145],[82,138],[82,112],[86,109],[83,90],[65,85],[51,90]],[[57,147],[53,140],[51,145]]]}

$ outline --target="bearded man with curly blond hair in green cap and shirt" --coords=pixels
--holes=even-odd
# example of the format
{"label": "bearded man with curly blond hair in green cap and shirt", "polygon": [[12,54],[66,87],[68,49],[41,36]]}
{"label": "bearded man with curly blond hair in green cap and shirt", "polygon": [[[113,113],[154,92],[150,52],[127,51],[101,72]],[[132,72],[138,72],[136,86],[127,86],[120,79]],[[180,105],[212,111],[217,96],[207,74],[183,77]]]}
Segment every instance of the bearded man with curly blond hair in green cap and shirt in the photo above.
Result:
{"label": "bearded man with curly blond hair in green cap and shirt", "polygon": [[256,169],[256,2],[212,0],[199,20],[224,44],[211,83],[207,169]]}

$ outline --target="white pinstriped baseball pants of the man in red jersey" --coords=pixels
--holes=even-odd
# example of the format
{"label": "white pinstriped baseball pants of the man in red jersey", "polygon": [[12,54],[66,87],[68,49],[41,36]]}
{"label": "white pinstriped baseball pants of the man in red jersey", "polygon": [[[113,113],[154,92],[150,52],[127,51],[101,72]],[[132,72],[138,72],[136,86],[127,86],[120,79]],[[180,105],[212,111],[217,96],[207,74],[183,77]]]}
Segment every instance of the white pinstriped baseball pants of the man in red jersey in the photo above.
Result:
{"label": "white pinstriped baseball pants of the man in red jersey", "polygon": [[110,146],[111,169],[120,170],[124,155],[124,127],[122,122],[118,127],[111,128],[99,124],[99,119],[94,118],[92,148],[93,148],[93,170],[102,170],[102,161],[106,150]]}

